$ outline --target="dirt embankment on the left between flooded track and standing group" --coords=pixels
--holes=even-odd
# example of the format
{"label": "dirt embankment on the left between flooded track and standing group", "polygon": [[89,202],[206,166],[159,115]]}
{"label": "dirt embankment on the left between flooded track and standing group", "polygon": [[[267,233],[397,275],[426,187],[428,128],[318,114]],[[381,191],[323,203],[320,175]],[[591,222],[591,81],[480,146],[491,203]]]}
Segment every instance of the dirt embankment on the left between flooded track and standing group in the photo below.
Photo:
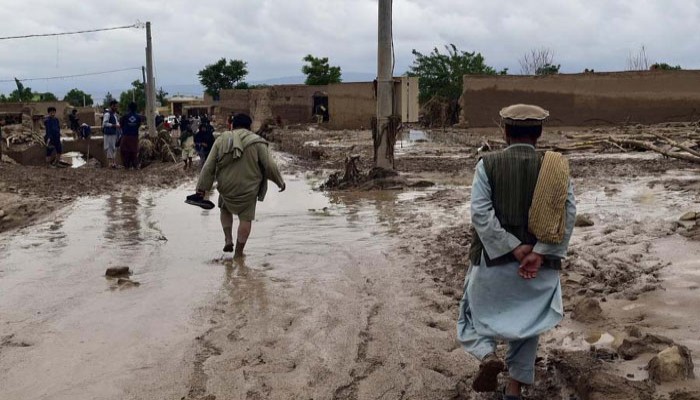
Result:
{"label": "dirt embankment on the left between flooded track and standing group", "polygon": [[31,225],[82,196],[124,188],[168,188],[194,176],[181,164],[155,163],[138,171],[48,168],[0,163],[0,232]]}

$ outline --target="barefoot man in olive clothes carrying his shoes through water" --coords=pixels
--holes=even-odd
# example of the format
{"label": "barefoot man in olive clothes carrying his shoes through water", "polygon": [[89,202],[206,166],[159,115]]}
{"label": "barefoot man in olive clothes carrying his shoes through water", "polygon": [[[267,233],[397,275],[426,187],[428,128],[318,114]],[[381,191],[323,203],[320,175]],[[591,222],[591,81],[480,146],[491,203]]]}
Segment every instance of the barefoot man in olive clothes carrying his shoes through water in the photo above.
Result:
{"label": "barefoot man in olive clothes carrying his shoes through water", "polygon": [[234,257],[243,256],[243,248],[255,219],[256,201],[263,201],[267,180],[283,192],[284,179],[272,159],[268,143],[250,131],[252,120],[248,115],[233,118],[233,131],[224,132],[214,142],[211,154],[197,182],[197,193],[186,202],[204,207],[204,195],[217,182],[221,226],[224,230],[224,252],[233,248],[233,215],[238,216],[238,232]]}

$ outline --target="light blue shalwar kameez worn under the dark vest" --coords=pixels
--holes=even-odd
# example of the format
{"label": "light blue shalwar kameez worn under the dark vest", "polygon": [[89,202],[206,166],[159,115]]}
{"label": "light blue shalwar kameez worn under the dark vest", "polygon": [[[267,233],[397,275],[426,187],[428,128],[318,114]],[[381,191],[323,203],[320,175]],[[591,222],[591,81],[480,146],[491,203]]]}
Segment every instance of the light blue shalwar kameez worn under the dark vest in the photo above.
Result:
{"label": "light blue shalwar kameez worn under the dark vest", "polygon": [[[556,245],[538,242],[533,251],[564,258],[575,217],[573,187],[569,183],[564,240]],[[512,252],[521,244],[496,218],[483,161],[477,164],[474,175],[471,218],[492,259]],[[479,264],[469,268],[460,302],[457,337],[464,349],[480,360],[495,352],[497,340],[507,341],[506,364],[510,377],[532,384],[539,335],[562,320],[564,309],[558,270],[542,268],[536,278],[527,280],[518,275],[519,266],[511,262],[487,267],[482,256]]]}

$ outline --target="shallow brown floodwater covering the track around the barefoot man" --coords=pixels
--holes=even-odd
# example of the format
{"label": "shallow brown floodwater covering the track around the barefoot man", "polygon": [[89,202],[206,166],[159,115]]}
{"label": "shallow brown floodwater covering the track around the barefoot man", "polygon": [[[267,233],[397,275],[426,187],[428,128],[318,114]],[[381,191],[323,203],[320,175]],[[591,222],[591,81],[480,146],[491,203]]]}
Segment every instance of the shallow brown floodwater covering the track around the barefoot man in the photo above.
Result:
{"label": "shallow brown floodwater covering the track around the barefoot man", "polygon": [[[314,393],[324,374],[352,383],[338,372],[376,312],[363,290],[390,272],[399,196],[329,200],[287,179],[258,203],[242,263],[222,257],[218,212],[184,204],[188,188],[80,199],[5,236],[0,398],[245,398],[261,390],[232,372],[248,362],[282,374],[268,391]],[[106,278],[111,266],[139,285]]]}

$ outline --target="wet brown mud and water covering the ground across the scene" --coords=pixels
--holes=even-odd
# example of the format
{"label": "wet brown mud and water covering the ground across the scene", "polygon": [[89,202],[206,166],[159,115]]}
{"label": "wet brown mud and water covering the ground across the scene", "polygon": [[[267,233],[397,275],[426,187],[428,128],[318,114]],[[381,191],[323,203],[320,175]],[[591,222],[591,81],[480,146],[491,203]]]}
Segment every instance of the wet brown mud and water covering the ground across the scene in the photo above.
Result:
{"label": "wet brown mud and water covering the ground across the scene", "polygon": [[[0,398],[497,399],[471,392],[478,363],[455,340],[472,171],[497,132],[408,132],[397,170],[434,185],[326,193],[314,188],[348,155],[371,164],[369,132],[273,135],[288,190],[259,204],[244,260],[222,256],[216,210],[182,203],[191,183],[166,188],[177,180],[66,194],[48,222],[0,236]],[[567,316],[525,398],[700,398],[696,380],[646,370],[672,344],[700,354],[700,250],[695,221],[679,221],[700,211],[697,170],[569,156],[591,224],[575,230]],[[118,266],[132,284],[104,276]],[[646,337],[663,339],[629,350]]]}

